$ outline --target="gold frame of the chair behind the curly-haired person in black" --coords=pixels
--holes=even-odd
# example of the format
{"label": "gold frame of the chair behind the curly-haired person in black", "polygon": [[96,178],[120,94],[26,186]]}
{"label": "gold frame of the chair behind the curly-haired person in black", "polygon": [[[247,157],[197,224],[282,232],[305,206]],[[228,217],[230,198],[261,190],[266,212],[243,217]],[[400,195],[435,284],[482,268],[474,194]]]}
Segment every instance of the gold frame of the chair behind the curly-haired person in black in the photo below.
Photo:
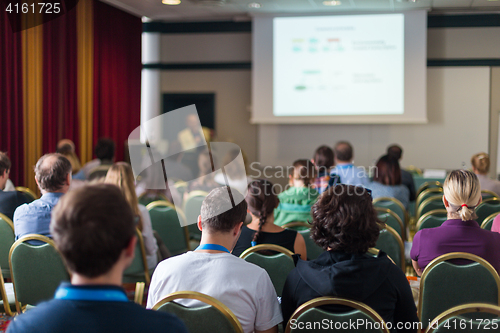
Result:
{"label": "gold frame of the chair behind the curly-haired person in black", "polygon": [[317,307],[320,307],[323,305],[331,305],[331,304],[344,305],[344,306],[348,306],[350,308],[359,310],[359,311],[363,312],[364,314],[368,315],[373,321],[382,323],[381,330],[384,333],[389,333],[389,330],[387,329],[387,325],[385,324],[384,319],[382,319],[382,317],[375,310],[373,310],[371,307],[369,307],[368,305],[361,303],[361,302],[358,302],[358,301],[352,301],[352,300],[349,300],[346,298],[331,297],[331,296],[323,296],[323,297],[314,298],[310,301],[305,302],[301,306],[299,306],[297,308],[297,310],[295,310],[293,315],[290,317],[290,320],[288,321],[288,323],[286,325],[285,333],[290,333],[292,330],[292,328],[290,326],[290,322],[293,319],[298,319],[299,316],[301,314],[303,314],[304,312],[306,312],[307,310],[312,309],[312,308],[317,308]]}

